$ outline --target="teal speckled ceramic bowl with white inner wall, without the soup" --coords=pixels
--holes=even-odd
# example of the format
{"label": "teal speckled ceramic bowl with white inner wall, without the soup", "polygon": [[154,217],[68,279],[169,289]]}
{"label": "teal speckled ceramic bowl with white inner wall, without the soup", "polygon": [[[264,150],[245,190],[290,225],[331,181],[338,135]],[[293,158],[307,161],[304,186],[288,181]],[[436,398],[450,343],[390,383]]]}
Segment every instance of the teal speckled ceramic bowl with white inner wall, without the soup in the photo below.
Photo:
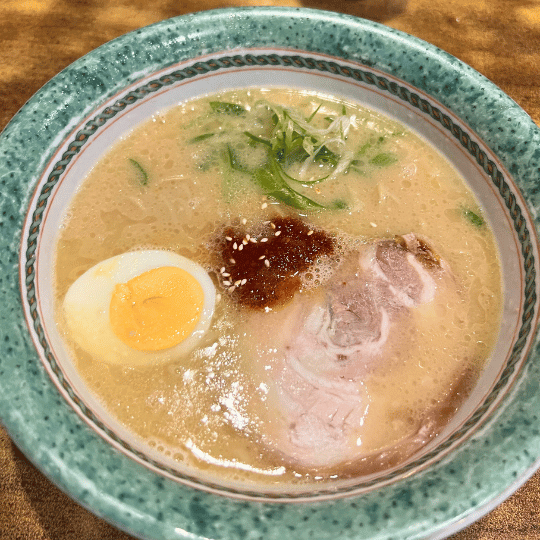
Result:
{"label": "teal speckled ceramic bowl with white inner wall, without the soup", "polygon": [[[102,152],[173,103],[271,84],[350,97],[428,139],[482,203],[503,266],[499,341],[445,432],[400,467],[316,493],[220,484],[138,445],[70,368],[52,313],[56,233]],[[152,540],[442,538],[494,508],[540,464],[540,132],[448,54],[323,11],[179,17],[57,75],[1,135],[0,163],[0,417],[53,482],[117,527]]]}

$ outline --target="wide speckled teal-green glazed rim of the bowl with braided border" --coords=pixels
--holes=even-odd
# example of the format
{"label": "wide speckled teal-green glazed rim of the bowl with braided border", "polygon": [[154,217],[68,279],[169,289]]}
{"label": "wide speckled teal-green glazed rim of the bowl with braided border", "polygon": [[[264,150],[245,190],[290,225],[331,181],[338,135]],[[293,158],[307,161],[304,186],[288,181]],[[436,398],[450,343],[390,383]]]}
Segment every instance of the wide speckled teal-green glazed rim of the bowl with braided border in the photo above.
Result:
{"label": "wide speckled teal-green glazed rim of the bowl with braided border", "polygon": [[[537,467],[538,343],[534,343],[529,359],[497,411],[434,465],[360,496],[287,504],[212,495],[161,477],[128,459],[101,439],[66,403],[40,363],[28,335],[17,268],[28,204],[46,164],[53,160],[61,174],[62,167],[82,145],[91,142],[93,133],[108,118],[159,90],[160,85],[174,84],[180,77],[196,77],[203,65],[210,70],[228,69],[219,62],[234,64],[236,57],[247,64],[257,62],[245,50],[265,47],[309,51],[336,59],[324,66],[312,60],[312,66],[298,69],[339,71],[342,66],[337,59],[364,66],[358,69],[358,77],[372,77],[373,82],[362,80],[430,115],[460,140],[492,179],[520,237],[527,276],[529,305],[524,310],[522,336],[499,387],[507,382],[505,375],[514,375],[513,362],[518,362],[521,348],[533,331],[530,325],[537,311],[536,237],[535,231],[527,229],[503,171],[476,141],[483,141],[512,175],[536,215],[540,208],[538,128],[514,102],[471,68],[433,46],[381,25],[322,11],[222,10],[164,21],[104,45],[50,81],[2,134],[0,417],[19,447],[62,489],[94,513],[141,538],[438,538],[479,517]],[[220,53],[226,51],[230,53],[224,60]],[[204,60],[199,60],[199,67],[195,63],[182,73],[167,71],[181,61],[200,57]],[[274,55],[274,59],[294,62],[294,54],[284,52]],[[419,93],[395,86],[372,69],[405,81]],[[137,87],[142,75],[154,72],[165,74],[154,79],[154,86],[151,83]],[[130,85],[135,90],[123,93]],[[112,106],[101,115],[91,116],[96,107],[117,94],[118,110]],[[445,116],[423,94],[452,111],[467,129]],[[93,123],[72,136],[66,153],[53,157],[58,145],[89,115]],[[25,254],[27,272],[22,292],[29,299],[33,298],[33,235],[38,234],[40,212],[56,180],[49,177],[49,181],[38,197],[34,214],[28,217],[37,226],[36,230],[30,228]],[[538,229],[538,220],[534,225]],[[34,325],[39,330],[38,317]],[[40,341],[46,348],[45,338]],[[48,360],[54,371],[54,357],[50,355]],[[69,393],[69,385],[64,388]]]}

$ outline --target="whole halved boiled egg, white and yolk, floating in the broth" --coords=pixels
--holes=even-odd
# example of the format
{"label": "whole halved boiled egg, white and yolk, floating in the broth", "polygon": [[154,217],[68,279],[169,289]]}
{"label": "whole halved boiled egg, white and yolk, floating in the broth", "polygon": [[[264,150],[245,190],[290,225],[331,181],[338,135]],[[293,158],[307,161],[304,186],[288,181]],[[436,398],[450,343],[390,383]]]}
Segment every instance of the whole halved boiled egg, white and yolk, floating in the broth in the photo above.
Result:
{"label": "whole halved boiled egg, white and yolk, floating in the broth", "polygon": [[96,360],[143,365],[193,349],[210,327],[215,287],[169,251],[124,253],[82,274],[64,298],[72,339]]}

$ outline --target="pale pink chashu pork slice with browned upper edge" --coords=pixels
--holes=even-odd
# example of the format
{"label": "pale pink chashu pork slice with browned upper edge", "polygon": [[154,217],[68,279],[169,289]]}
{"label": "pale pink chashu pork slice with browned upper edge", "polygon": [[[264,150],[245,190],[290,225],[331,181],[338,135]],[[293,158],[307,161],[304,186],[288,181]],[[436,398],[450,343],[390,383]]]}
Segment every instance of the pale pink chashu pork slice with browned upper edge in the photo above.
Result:
{"label": "pale pink chashu pork slice with browned upper edge", "polygon": [[324,293],[297,294],[279,311],[253,314],[248,327],[264,334],[257,351],[267,380],[262,443],[306,468],[360,459],[370,407],[363,379],[403,353],[414,332],[411,313],[433,300],[445,274],[415,235],[378,240],[348,255]]}

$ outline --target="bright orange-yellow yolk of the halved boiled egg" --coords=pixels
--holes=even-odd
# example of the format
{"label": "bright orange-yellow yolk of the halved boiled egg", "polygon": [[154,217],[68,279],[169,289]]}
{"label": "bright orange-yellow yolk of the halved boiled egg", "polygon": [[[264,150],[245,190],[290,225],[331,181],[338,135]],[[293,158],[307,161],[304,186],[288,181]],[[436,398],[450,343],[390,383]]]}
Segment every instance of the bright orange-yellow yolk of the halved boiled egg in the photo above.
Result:
{"label": "bright orange-yellow yolk of the halved boiled egg", "polygon": [[133,349],[168,349],[191,335],[203,303],[203,288],[189,272],[174,266],[154,268],[115,286],[111,327]]}

